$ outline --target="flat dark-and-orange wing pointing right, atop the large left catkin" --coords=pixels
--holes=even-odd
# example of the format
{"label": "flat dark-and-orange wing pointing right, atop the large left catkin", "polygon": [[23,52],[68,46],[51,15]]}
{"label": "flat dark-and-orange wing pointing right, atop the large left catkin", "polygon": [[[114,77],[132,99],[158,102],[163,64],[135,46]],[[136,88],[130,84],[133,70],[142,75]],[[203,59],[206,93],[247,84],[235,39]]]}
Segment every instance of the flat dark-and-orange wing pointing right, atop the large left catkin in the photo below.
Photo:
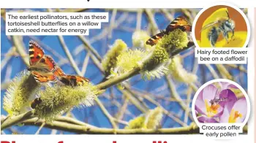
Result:
{"label": "flat dark-and-orange wing pointing right, atop the large left catkin", "polygon": [[64,85],[78,86],[83,85],[90,80],[85,77],[80,77],[76,75],[66,75],[60,78],[60,81],[64,83]]}

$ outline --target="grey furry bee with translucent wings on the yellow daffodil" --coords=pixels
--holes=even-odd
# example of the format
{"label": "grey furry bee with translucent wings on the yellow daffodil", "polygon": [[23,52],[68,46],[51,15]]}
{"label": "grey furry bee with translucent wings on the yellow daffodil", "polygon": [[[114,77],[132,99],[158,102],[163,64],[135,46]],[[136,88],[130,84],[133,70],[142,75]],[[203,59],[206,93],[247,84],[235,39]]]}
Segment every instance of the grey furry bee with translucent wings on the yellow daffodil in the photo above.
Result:
{"label": "grey furry bee with translucent wings on the yellow daffodil", "polygon": [[206,24],[206,26],[203,26],[201,32],[211,28],[208,32],[208,39],[211,42],[211,47],[215,47],[220,34],[223,35],[227,43],[229,42],[228,34],[230,32],[232,32],[231,39],[233,38],[235,35],[235,26],[235,21],[230,19],[230,15],[227,12],[227,17],[217,18],[216,21]]}

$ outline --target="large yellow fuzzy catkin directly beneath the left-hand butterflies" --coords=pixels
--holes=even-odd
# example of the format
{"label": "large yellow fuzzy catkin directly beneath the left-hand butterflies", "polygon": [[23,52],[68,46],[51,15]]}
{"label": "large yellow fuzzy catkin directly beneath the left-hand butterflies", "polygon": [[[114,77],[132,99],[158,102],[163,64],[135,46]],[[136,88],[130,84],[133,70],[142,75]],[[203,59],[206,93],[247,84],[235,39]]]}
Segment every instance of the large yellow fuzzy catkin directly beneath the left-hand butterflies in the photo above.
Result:
{"label": "large yellow fuzzy catkin directly beneath the left-hand butterflies", "polygon": [[35,114],[49,122],[73,107],[80,105],[90,107],[94,104],[96,94],[97,89],[91,83],[75,87],[67,85],[47,87],[39,93],[42,103],[35,108]]}

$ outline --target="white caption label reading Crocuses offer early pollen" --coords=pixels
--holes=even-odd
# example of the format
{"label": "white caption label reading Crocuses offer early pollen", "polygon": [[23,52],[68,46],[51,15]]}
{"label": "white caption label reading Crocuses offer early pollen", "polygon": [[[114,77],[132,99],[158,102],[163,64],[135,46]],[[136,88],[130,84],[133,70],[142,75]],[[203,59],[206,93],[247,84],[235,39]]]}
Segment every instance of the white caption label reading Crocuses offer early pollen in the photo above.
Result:
{"label": "white caption label reading Crocuses offer early pollen", "polygon": [[200,126],[200,133],[203,133],[206,137],[214,139],[230,139],[238,136],[243,132],[242,125],[227,124],[209,124],[205,123]]}

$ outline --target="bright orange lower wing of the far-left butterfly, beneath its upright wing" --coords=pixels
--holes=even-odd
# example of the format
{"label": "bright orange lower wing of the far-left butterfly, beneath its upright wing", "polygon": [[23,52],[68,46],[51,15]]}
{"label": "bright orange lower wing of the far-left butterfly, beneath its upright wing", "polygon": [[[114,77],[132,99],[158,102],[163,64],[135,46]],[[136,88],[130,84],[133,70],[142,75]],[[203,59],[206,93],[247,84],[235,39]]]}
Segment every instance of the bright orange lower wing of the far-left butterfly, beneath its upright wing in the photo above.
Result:
{"label": "bright orange lower wing of the far-left butterfly, beneath its upright wing", "polygon": [[33,74],[34,80],[36,80],[39,83],[56,82],[56,77],[53,74],[42,74],[37,71],[31,71],[31,74]]}

